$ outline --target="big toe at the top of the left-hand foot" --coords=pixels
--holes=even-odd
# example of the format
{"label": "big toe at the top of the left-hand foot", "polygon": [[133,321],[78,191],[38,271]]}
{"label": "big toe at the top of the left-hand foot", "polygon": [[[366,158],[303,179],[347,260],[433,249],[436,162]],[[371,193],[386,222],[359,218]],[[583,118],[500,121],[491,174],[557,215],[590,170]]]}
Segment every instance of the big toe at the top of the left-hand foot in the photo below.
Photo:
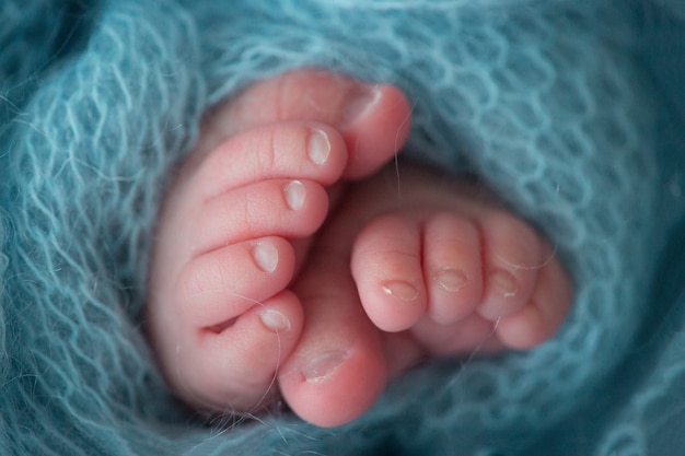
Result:
{"label": "big toe at the top of the left-hand foot", "polygon": [[208,148],[259,125],[306,120],[340,131],[349,151],[347,178],[362,178],[387,163],[410,130],[411,106],[400,90],[316,69],[257,82],[205,119]]}

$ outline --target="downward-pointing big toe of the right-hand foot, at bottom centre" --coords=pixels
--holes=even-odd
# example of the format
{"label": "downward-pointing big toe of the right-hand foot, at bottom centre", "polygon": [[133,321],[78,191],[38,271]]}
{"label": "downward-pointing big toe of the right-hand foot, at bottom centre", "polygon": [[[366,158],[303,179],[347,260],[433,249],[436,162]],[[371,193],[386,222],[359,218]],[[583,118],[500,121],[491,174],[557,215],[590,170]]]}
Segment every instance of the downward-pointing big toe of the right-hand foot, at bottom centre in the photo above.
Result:
{"label": "downward-pointing big toe of the right-hand foot, at bottom centre", "polygon": [[297,284],[305,325],[279,385],[290,408],[321,426],[372,407],[387,379],[380,334],[367,318],[345,261],[313,260]]}

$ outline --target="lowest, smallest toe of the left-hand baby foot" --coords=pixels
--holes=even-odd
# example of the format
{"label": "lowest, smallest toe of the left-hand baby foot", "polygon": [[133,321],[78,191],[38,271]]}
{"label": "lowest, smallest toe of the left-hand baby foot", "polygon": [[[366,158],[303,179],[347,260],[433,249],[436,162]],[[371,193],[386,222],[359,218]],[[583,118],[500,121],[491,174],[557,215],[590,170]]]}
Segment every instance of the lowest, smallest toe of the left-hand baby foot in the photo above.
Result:
{"label": "lowest, smallest toe of the left-hand baby foot", "polygon": [[[208,411],[253,413],[277,395],[277,375],[302,331],[302,306],[283,291],[225,328],[205,328],[179,349],[174,383],[183,399]],[[178,369],[178,367],[177,367]]]}

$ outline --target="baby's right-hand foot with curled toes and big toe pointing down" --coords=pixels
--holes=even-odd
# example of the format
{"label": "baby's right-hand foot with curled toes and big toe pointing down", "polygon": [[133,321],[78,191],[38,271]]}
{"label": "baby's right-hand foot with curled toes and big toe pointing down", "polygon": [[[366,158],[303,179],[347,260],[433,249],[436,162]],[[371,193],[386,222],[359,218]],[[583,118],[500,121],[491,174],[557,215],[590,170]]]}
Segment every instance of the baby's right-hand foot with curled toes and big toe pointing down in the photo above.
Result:
{"label": "baby's right-hand foot with curled toes and big toe pointing down", "polygon": [[397,169],[346,194],[294,288],[303,334],[279,384],[320,425],[355,419],[425,356],[534,347],[570,306],[568,276],[526,223],[476,185]]}

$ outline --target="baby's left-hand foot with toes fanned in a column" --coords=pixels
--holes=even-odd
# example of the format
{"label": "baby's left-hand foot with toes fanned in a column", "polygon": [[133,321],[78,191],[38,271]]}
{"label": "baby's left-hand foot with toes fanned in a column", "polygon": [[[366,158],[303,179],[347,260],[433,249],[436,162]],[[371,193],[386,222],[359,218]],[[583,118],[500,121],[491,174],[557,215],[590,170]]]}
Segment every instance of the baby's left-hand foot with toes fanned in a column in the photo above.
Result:
{"label": "baby's left-hand foot with toes fanned in a column", "polygon": [[288,285],[330,187],[393,156],[408,116],[392,86],[311,70],[211,113],[164,201],[150,272],[150,338],[182,399],[228,412],[270,402],[303,327]]}

